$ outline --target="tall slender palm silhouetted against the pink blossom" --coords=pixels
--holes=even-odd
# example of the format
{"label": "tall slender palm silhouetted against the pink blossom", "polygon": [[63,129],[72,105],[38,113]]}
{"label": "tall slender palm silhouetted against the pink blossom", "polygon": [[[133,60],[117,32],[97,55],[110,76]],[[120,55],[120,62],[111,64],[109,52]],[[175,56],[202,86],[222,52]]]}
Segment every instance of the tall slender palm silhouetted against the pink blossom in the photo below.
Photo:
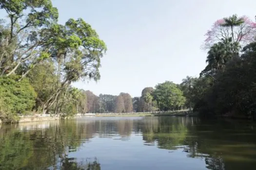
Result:
{"label": "tall slender palm silhouetted against the pink blossom", "polygon": [[244,23],[244,19],[242,17],[238,18],[237,15],[233,15],[232,17],[224,17],[224,23],[221,24],[223,27],[231,27],[231,34],[233,38],[233,43],[235,43],[234,32],[233,29],[236,26],[240,26]]}

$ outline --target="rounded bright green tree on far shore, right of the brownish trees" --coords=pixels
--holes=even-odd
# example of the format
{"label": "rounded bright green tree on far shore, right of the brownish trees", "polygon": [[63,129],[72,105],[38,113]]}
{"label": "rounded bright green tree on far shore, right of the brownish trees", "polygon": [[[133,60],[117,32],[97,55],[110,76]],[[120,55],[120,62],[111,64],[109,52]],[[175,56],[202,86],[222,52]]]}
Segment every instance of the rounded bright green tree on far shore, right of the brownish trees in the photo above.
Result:
{"label": "rounded bright green tree on far shore, right of the brownish trees", "polygon": [[185,103],[182,91],[173,82],[166,81],[156,85],[153,94],[158,108],[163,111],[177,109]]}

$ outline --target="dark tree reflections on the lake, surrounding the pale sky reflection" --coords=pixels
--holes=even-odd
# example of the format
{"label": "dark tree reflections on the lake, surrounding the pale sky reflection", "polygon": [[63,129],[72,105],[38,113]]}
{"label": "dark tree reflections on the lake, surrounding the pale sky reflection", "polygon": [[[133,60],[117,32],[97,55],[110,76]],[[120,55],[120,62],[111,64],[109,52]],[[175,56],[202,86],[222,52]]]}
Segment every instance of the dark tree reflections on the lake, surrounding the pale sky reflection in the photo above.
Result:
{"label": "dark tree reflections on the lake, surrounding the pale sky reflection", "polygon": [[146,147],[203,159],[210,170],[255,170],[256,167],[255,124],[188,117],[146,117],[1,125],[0,169],[100,170],[100,160],[76,158],[83,144],[94,142],[93,138],[132,141],[132,136],[142,136]]}

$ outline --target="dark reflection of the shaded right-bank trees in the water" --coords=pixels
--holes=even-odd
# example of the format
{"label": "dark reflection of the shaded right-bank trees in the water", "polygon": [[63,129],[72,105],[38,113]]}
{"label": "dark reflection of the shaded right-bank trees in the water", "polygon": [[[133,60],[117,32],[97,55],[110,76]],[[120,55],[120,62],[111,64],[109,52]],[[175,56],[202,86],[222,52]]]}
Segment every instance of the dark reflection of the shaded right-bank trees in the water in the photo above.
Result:
{"label": "dark reflection of the shaded right-bank trees in the water", "polygon": [[204,158],[210,170],[251,170],[256,166],[255,134],[250,126],[236,121],[197,122],[188,126],[188,156]]}

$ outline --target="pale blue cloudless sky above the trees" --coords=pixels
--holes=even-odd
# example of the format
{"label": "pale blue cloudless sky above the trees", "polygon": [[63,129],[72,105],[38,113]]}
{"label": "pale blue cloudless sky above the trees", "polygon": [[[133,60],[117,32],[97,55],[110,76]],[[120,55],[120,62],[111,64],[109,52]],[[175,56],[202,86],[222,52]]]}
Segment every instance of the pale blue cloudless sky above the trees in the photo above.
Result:
{"label": "pale blue cloudless sky above the trees", "polygon": [[204,34],[220,18],[256,16],[256,0],[52,0],[59,23],[83,18],[108,48],[101,79],[73,85],[96,95],[140,96],[144,87],[199,76]]}

